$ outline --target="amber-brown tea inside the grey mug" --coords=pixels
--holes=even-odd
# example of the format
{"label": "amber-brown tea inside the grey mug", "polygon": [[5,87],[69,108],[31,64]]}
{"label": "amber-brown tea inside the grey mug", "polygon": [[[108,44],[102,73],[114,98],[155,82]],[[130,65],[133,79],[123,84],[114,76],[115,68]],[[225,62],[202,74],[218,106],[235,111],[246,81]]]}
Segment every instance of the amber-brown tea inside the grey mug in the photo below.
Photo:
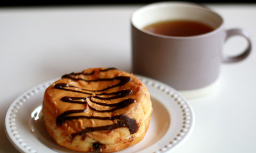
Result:
{"label": "amber-brown tea inside the grey mug", "polygon": [[191,20],[167,20],[147,25],[143,28],[151,33],[166,36],[196,36],[213,31],[209,25]]}

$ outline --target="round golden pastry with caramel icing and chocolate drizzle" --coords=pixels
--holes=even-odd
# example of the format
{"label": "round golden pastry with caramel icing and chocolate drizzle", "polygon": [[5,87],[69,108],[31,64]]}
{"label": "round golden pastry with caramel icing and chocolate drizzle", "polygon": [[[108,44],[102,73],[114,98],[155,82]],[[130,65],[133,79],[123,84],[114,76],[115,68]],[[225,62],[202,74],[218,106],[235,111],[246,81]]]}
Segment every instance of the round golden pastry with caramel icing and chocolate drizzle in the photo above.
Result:
{"label": "round golden pastry with caramel icing and chocolate drizzle", "polygon": [[45,128],[79,152],[116,152],[140,142],[152,113],[150,95],[134,75],[90,68],[64,75],[44,94]]}

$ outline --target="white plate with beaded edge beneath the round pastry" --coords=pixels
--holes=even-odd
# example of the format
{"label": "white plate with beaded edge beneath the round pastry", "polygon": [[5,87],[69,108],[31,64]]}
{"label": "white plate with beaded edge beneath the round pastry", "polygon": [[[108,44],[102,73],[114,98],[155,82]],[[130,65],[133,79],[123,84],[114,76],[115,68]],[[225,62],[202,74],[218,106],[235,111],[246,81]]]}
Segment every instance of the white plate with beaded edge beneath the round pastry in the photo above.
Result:
{"label": "white plate with beaded edge beneath the round pastry", "polygon": [[[194,113],[188,101],[172,87],[136,75],[147,86],[153,113],[145,138],[120,153],[170,152],[193,131]],[[20,152],[70,152],[46,133],[41,108],[45,89],[55,80],[40,84],[17,98],[5,117],[6,135]]]}

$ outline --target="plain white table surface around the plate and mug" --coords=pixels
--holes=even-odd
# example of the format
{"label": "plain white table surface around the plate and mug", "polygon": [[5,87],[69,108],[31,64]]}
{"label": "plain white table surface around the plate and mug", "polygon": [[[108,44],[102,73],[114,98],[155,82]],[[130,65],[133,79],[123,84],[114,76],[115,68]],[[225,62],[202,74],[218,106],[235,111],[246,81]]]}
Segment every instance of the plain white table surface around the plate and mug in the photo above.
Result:
{"label": "plain white table surface around the plate and mug", "polygon": [[[218,87],[188,99],[195,112],[189,139],[173,150],[256,152],[256,4],[207,4],[225,19],[227,29],[246,29],[250,57],[223,64]],[[18,152],[4,133],[8,107],[42,82],[90,67],[131,72],[129,17],[136,6],[80,6],[0,9],[0,152]],[[224,47],[236,54],[246,43],[233,38]]]}

